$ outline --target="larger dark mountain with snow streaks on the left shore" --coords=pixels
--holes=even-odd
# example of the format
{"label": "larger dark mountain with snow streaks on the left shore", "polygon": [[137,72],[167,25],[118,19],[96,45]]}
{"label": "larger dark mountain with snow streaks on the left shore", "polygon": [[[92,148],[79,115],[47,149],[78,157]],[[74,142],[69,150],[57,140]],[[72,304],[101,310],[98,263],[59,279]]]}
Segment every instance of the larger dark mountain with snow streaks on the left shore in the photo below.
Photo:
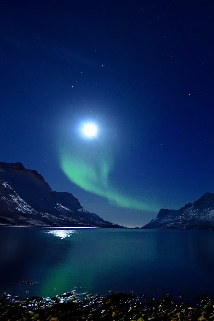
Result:
{"label": "larger dark mountain with snow streaks on the left shore", "polygon": [[123,228],[87,212],[72,194],[53,191],[35,169],[3,162],[0,225]]}

